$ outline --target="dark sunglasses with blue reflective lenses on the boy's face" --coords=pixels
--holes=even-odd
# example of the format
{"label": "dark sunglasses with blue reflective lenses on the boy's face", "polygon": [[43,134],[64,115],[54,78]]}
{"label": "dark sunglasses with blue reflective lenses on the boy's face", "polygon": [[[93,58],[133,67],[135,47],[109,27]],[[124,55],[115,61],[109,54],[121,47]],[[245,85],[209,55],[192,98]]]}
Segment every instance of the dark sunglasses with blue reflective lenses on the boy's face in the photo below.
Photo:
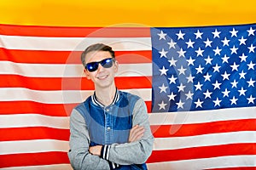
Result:
{"label": "dark sunglasses with blue reflective lenses on the boy's face", "polygon": [[113,66],[114,58],[102,59],[101,61],[91,62],[84,65],[84,68],[87,71],[93,72],[96,71],[99,67],[99,64],[104,68],[110,68]]}

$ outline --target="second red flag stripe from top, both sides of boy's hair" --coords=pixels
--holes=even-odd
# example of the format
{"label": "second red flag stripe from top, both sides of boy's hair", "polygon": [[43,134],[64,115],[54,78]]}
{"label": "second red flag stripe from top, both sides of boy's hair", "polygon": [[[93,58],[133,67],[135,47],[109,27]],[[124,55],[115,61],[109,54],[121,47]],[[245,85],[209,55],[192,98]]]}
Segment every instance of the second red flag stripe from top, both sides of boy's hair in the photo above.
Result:
{"label": "second red flag stripe from top, both sides of boy's hair", "polygon": [[[36,51],[0,48],[0,60],[32,64],[79,64],[80,51]],[[151,63],[151,51],[116,51],[120,64]]]}

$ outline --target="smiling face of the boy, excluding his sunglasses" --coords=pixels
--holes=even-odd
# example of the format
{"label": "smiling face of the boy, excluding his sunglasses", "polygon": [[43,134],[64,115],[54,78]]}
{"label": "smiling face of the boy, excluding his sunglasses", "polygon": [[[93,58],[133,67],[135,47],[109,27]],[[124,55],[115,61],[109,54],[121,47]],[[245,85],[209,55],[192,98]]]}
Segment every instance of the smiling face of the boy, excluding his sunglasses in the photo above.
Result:
{"label": "smiling face of the boy, excluding his sunglasses", "polygon": [[[92,51],[85,56],[85,64],[90,62],[102,61],[102,59],[112,58],[108,51]],[[104,68],[101,64],[98,65],[96,71],[84,70],[85,76],[94,82],[96,88],[108,88],[114,83],[114,75],[118,71],[118,61],[113,62],[110,68]]]}

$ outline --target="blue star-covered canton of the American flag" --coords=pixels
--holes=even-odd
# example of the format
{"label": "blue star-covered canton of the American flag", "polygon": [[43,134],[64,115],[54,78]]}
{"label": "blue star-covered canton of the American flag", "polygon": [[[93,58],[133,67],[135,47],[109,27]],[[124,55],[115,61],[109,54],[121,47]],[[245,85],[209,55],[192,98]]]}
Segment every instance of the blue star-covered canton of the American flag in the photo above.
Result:
{"label": "blue star-covered canton of the American flag", "polygon": [[152,112],[256,104],[256,25],[151,28]]}

